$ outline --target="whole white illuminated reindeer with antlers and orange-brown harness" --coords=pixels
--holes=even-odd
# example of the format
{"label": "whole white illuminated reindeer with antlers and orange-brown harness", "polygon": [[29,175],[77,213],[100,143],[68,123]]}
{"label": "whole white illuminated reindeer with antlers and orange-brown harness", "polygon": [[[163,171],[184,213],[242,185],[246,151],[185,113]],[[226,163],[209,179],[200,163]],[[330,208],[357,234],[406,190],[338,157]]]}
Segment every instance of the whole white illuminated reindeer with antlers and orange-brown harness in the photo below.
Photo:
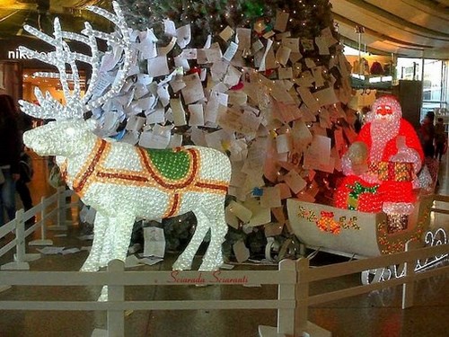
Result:
{"label": "whole white illuminated reindeer with antlers and orange-brown harness", "polygon": [[[198,225],[189,245],[172,268],[191,268],[198,246],[210,229],[210,243],[199,270],[217,270],[223,262],[221,244],[227,231],[225,195],[231,178],[228,157],[207,147],[146,150],[105,140],[92,132],[95,121],[83,118],[85,112],[100,107],[117,95],[128,75],[132,58],[130,30],[119,5],[113,3],[113,6],[115,15],[90,7],[92,12],[117,25],[118,30],[110,34],[92,30],[87,22],[81,35],[61,31],[59,22],[55,20],[54,38],[25,27],[55,47],[55,51],[48,53],[26,48],[21,51],[57,67],[58,74],[54,75],[60,78],[66,104],[57,102],[49,93],[44,97],[39,89],[35,93],[39,105],[21,101],[22,110],[27,114],[54,120],[25,132],[24,143],[39,155],[57,155],[57,164],[65,173],[67,185],[86,205],[97,211],[92,250],[82,271],[99,270],[113,259],[124,261],[136,217],[159,219],[189,211],[197,217]],[[66,39],[89,45],[92,57],[71,51]],[[96,47],[96,39],[106,40],[122,52],[117,76],[107,93],[101,95],[95,93],[101,76],[101,53]],[[76,61],[92,65],[91,84],[83,97]],[[66,73],[66,64],[72,69],[72,78]],[[69,91],[68,80],[74,80],[73,92]]]}

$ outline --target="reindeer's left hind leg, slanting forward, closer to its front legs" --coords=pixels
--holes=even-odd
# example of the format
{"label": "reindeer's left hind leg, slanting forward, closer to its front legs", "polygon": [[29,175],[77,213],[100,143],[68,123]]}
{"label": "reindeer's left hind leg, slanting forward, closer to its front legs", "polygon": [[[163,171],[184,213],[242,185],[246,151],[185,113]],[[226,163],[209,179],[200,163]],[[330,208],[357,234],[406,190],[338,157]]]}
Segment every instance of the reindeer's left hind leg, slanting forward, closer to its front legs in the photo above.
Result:
{"label": "reindeer's left hind leg, slanting forward, closer to its front legs", "polygon": [[178,260],[173,263],[173,270],[190,270],[195,254],[198,252],[199,245],[203,242],[204,237],[209,230],[209,224],[206,214],[200,210],[194,210],[197,217],[197,228],[184,252],[180,254]]}

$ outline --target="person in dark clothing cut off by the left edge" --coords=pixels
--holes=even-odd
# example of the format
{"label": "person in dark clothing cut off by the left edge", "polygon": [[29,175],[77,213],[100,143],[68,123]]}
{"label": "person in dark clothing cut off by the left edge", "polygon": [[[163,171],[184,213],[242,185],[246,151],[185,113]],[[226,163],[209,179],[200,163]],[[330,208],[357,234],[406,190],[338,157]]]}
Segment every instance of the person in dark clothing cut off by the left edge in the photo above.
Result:
{"label": "person in dark clothing cut off by the left edge", "polygon": [[4,182],[0,185],[0,226],[15,217],[15,182],[20,178],[19,162],[22,150],[22,138],[17,123],[17,113],[12,97],[0,94],[0,169]]}

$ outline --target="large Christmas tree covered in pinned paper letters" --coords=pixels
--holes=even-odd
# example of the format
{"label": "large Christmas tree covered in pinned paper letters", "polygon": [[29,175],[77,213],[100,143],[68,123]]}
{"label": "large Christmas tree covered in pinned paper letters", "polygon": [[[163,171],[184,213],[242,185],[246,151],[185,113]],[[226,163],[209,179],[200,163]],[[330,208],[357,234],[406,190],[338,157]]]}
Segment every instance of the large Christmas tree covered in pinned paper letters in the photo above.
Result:
{"label": "large Christmas tree covered in pinned paper letters", "polygon": [[[121,96],[92,111],[103,120],[102,136],[226,152],[233,181],[225,252],[243,243],[256,257],[268,242],[277,251],[295,244],[286,199],[330,204],[340,156],[354,137],[345,112],[350,67],[330,2],[120,4],[136,29],[134,74]],[[195,221],[163,225],[175,249],[180,230],[173,228],[190,233]]]}

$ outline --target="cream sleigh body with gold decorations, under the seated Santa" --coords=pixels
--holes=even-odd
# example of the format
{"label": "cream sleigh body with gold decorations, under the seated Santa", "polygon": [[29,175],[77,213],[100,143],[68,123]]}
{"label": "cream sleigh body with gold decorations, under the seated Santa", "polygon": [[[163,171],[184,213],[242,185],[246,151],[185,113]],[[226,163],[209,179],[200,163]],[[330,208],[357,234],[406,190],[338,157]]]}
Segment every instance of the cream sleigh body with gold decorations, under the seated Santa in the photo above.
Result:
{"label": "cream sleigh body with gold decorations, under the seated Santa", "polygon": [[[383,212],[364,213],[301,200],[287,200],[287,212],[295,235],[305,247],[353,258],[366,258],[404,251],[409,240],[422,241],[430,224],[433,199],[425,196],[415,204],[406,229],[388,233]],[[325,213],[322,213],[325,212]],[[325,214],[339,226],[338,233],[320,228]]]}

